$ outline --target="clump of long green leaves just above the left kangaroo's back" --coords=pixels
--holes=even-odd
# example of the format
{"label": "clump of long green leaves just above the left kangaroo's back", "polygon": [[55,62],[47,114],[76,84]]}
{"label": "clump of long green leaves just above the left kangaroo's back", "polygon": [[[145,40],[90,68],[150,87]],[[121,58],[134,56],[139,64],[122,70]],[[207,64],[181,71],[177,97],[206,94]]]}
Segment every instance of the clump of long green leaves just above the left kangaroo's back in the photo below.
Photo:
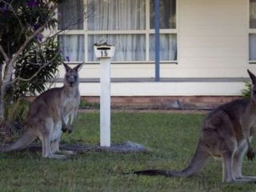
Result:
{"label": "clump of long green leaves just above the left kangaroo's back", "polygon": [[46,82],[56,78],[61,61],[62,56],[54,39],[48,39],[43,46],[33,44],[30,50],[24,50],[14,66],[14,78],[20,79],[13,85],[14,99],[45,91]]}

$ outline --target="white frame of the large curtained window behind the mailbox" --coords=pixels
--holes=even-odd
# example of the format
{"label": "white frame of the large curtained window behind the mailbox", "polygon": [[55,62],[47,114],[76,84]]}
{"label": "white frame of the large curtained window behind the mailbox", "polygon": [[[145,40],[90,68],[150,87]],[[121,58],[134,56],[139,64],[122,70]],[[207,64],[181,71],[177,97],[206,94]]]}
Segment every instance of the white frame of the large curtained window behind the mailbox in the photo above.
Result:
{"label": "white frame of the large curtained window behind the mailbox", "polygon": [[[88,36],[90,34],[145,34],[146,35],[146,60],[143,61],[113,61],[112,63],[154,63],[150,60],[150,34],[154,34],[154,29],[150,29],[150,0],[146,1],[146,29],[145,30],[88,30],[87,19],[84,19],[83,30],[63,30],[58,31],[59,35],[68,35],[68,34],[83,34],[84,35],[84,62],[88,64],[94,64],[98,62],[88,61]],[[160,29],[159,33],[161,34],[176,34],[177,40],[177,57],[176,60],[160,60],[160,63],[174,63],[178,64],[178,0],[176,1],[176,28],[175,29]],[[87,0],[83,0],[85,7],[87,8]],[[87,10],[85,10],[86,13]],[[161,54],[161,53],[160,53]],[[72,63],[79,63],[81,61],[72,61]]]}

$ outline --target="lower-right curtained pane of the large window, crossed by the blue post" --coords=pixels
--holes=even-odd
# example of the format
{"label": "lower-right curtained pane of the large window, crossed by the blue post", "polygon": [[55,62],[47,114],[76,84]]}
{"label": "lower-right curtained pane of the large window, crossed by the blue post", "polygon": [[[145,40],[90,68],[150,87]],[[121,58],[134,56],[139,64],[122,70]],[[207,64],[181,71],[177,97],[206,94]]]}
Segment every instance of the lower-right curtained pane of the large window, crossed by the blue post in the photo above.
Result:
{"label": "lower-right curtained pane of the large window, crossed by the blue post", "polygon": [[[154,34],[150,34],[150,60],[154,61]],[[160,34],[160,60],[177,60],[177,34]]]}

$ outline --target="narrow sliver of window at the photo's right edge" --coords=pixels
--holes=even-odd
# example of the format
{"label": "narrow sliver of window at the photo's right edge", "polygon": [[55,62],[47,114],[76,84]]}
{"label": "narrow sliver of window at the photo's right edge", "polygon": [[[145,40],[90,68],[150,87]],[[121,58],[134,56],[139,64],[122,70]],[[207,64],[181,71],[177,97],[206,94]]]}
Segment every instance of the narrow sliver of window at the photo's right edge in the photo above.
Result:
{"label": "narrow sliver of window at the photo's right edge", "polygon": [[256,61],[256,0],[250,0],[249,61]]}

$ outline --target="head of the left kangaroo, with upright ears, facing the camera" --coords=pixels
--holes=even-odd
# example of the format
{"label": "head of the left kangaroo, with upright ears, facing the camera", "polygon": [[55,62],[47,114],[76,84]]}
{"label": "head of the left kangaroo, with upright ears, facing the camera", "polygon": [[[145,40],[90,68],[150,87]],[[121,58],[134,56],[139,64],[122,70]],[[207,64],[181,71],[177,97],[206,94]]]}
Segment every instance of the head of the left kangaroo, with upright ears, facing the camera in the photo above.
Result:
{"label": "head of the left kangaroo, with upright ears, facing the camera", "polygon": [[82,63],[78,64],[78,66],[75,66],[74,68],[70,68],[66,63],[63,62],[63,65],[66,69],[66,74],[64,78],[64,85],[65,86],[78,86],[79,83],[79,77],[78,77],[78,71],[82,68]]}

